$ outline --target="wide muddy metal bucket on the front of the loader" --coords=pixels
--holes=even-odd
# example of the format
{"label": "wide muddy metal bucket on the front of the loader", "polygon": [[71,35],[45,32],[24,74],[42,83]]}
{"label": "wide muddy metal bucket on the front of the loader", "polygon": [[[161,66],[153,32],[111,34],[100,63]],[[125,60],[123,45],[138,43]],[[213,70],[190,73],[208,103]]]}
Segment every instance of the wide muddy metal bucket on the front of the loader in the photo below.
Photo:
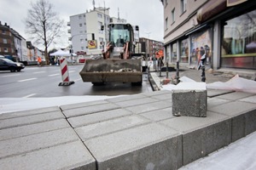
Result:
{"label": "wide muddy metal bucket on the front of the loader", "polygon": [[84,82],[142,82],[142,60],[86,59],[79,74]]}

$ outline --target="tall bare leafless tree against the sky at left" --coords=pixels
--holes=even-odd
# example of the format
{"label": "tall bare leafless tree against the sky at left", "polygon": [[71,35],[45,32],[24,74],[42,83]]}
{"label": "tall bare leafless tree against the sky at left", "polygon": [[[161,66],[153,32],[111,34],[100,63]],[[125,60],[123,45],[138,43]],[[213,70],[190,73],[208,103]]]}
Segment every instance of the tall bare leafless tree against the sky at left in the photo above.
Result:
{"label": "tall bare leafless tree against the sky at left", "polygon": [[55,42],[56,37],[61,37],[64,20],[60,20],[51,3],[47,0],[38,0],[31,3],[25,22],[26,33],[32,36],[36,44],[44,46],[44,56],[46,63],[49,64],[49,45]]}

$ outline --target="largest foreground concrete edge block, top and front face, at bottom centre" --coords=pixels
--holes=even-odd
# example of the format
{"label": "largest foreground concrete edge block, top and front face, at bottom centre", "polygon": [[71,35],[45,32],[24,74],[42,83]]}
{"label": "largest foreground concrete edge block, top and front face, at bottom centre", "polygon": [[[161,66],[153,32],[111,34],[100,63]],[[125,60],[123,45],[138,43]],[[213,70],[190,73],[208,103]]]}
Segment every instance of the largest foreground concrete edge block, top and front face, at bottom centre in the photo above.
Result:
{"label": "largest foreground concrete edge block, top and front face, at bottom centre", "polygon": [[182,166],[177,132],[151,123],[84,142],[101,169],[177,169]]}

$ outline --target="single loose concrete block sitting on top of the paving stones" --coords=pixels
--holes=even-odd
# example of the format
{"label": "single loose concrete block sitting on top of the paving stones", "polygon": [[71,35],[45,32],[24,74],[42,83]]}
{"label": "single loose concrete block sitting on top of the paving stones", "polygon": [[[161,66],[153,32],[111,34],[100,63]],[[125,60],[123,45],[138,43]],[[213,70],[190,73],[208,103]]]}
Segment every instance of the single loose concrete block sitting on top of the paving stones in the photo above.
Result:
{"label": "single loose concrete block sitting on top of the paving stones", "polygon": [[207,87],[205,82],[180,82],[172,89],[174,116],[207,116]]}

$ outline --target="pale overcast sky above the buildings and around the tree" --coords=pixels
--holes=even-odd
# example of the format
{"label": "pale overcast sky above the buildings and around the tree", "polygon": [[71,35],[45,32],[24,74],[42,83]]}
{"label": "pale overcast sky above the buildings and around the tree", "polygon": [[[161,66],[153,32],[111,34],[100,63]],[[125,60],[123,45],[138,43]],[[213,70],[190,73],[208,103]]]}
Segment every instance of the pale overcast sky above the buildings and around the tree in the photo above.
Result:
{"label": "pale overcast sky above the buildings and around the tree", "polygon": [[[29,41],[29,35],[25,33],[25,20],[28,8],[35,0],[1,0],[0,21],[2,25],[7,23],[15,31]],[[140,37],[147,37],[156,41],[163,41],[164,16],[163,6],[160,0],[95,0],[96,7],[110,8],[110,16],[127,20],[131,25],[140,27]],[[50,0],[55,11],[62,20],[65,20],[66,30],[69,16],[82,14],[86,9],[93,8],[92,0]],[[67,31],[66,31],[67,32]],[[69,36],[70,37],[70,36]],[[68,34],[63,38],[62,43],[55,45],[55,48],[65,48],[68,45]],[[54,47],[51,47],[54,48]]]}

